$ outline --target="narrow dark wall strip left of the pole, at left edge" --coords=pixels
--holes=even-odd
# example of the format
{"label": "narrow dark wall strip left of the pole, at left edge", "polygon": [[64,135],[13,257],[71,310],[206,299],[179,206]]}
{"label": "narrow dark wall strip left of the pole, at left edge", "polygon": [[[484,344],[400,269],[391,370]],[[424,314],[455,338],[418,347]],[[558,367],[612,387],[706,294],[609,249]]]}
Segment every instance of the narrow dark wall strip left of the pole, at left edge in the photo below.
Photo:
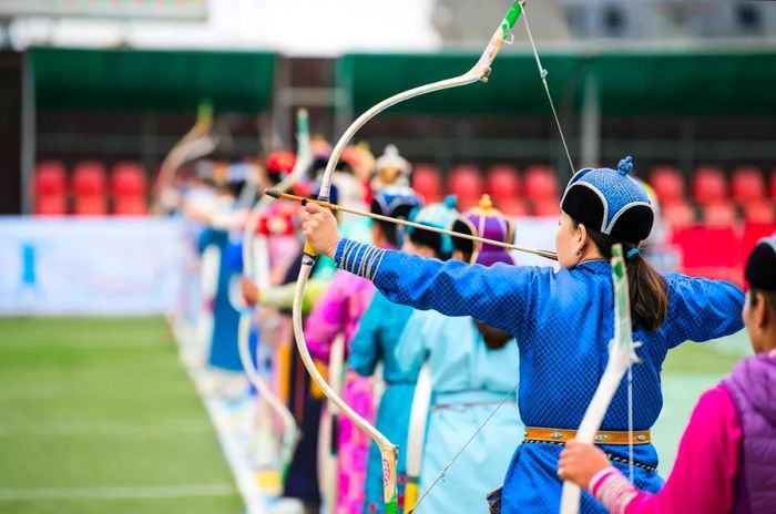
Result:
{"label": "narrow dark wall strip left of the pole, at left edge", "polygon": [[21,213],[22,56],[0,52],[0,214]]}

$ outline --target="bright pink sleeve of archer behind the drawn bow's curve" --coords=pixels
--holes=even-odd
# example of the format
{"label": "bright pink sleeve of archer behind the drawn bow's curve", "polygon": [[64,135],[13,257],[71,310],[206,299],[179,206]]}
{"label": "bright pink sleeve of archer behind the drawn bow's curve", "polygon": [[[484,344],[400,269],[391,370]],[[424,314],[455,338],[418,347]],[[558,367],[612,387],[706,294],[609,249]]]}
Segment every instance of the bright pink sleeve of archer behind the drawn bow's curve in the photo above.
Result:
{"label": "bright pink sleeve of archer behind the drawn bow's curve", "polygon": [[334,338],[345,330],[347,296],[343,282],[347,281],[346,277],[346,273],[337,271],[305,321],[305,338],[310,354],[324,362],[329,360]]}

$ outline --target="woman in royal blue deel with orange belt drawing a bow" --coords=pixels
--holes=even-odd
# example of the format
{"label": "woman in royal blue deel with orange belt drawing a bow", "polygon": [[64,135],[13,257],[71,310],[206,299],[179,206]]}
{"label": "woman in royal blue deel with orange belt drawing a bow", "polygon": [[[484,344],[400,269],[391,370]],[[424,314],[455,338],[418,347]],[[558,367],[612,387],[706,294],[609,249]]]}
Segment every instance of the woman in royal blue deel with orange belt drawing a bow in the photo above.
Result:
{"label": "woman in royal blue deel with orange belt drawing a bow", "polygon": [[[660,371],[666,353],[687,340],[707,341],[741,330],[744,294],[725,281],[657,274],[639,254],[654,213],[644,188],[630,173],[585,168],[561,198],[555,245],[561,268],[490,268],[441,263],[341,239],[334,216],[315,204],[303,213],[303,232],[320,254],[350,273],[369,277],[391,301],[447,316],[471,316],[504,330],[520,350],[520,417],[527,425],[492,508],[502,513],[555,513],[561,481],[558,459],[598,389],[613,333],[611,258],[621,244],[627,255],[633,339],[644,346],[633,370],[633,401],[621,387],[599,434],[601,448],[619,469],[629,463],[629,407],[636,432],[635,484],[658,491],[657,453],[650,428],[663,407]],[[517,379],[517,373],[515,373]],[[513,434],[518,443],[523,434]],[[484,492],[483,492],[484,493]],[[583,513],[602,513],[590,495]]]}

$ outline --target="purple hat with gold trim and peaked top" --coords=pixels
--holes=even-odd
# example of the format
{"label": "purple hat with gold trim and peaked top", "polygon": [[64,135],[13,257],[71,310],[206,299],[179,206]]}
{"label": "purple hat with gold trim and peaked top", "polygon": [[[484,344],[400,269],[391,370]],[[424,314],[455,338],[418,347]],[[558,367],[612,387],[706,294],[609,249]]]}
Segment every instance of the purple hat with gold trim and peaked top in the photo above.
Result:
{"label": "purple hat with gold trim and peaked top", "polygon": [[[514,223],[493,207],[490,195],[482,195],[480,204],[463,213],[463,218],[471,224],[477,236],[499,243],[514,241]],[[482,266],[492,266],[496,263],[514,264],[509,250],[488,243],[474,245],[471,261]]]}

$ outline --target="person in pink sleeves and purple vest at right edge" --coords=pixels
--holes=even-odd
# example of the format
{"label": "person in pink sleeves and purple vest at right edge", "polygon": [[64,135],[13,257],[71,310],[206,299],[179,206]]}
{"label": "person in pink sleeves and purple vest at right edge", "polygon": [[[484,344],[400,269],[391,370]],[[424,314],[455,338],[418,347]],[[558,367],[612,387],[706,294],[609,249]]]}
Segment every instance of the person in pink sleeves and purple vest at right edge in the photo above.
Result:
{"label": "person in pink sleeves and purple vest at right edge", "polygon": [[570,441],[558,474],[611,513],[776,513],[776,238],[746,263],[744,325],[754,357],[698,400],[674,470],[657,494],[640,491],[590,444]]}

